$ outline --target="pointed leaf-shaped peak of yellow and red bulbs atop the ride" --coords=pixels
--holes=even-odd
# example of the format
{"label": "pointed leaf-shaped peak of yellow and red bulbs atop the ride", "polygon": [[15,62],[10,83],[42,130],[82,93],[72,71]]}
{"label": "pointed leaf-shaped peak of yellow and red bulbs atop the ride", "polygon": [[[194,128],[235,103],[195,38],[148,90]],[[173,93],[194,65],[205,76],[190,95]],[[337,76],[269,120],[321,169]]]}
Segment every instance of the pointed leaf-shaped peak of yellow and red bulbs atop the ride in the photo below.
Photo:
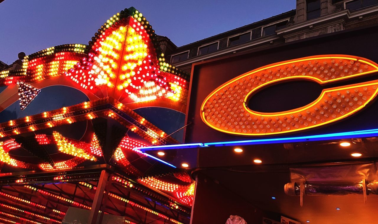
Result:
{"label": "pointed leaf-shaped peak of yellow and red bulbs atop the ride", "polygon": [[117,99],[183,100],[186,80],[165,72],[164,66],[169,64],[159,61],[160,55],[147,32],[148,23],[135,12],[133,17],[115,15],[108,20],[107,28],[96,33],[91,42],[88,56],[66,75],[84,89],[106,92]]}

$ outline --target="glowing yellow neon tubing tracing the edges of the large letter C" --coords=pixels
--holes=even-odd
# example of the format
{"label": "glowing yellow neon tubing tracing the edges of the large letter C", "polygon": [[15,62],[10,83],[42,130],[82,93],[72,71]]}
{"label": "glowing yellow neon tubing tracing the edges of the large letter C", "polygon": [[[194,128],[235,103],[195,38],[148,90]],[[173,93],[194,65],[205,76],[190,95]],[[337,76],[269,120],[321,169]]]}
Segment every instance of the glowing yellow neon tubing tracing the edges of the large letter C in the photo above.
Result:
{"label": "glowing yellow neon tubing tracing the edges of the large letter C", "polygon": [[[316,56],[315,56],[316,57]],[[309,61],[309,60],[316,60],[316,59],[348,59],[348,60],[353,60],[353,61],[360,61],[360,62],[363,62],[365,64],[368,64],[368,65],[371,65],[372,67],[375,68],[375,70],[372,70],[372,71],[368,71],[368,72],[363,72],[363,73],[357,73],[357,74],[354,74],[354,75],[349,75],[349,76],[345,76],[345,77],[339,77],[339,78],[335,78],[335,79],[330,79],[330,80],[325,80],[325,81],[322,81],[321,79],[319,78],[316,78],[316,77],[313,77],[313,76],[288,76],[288,77],[284,77],[284,78],[279,78],[279,79],[275,79],[275,80],[272,80],[270,82],[266,82],[256,88],[254,88],[253,90],[251,90],[251,92],[248,92],[248,94],[246,94],[245,96],[245,99],[244,99],[244,103],[243,103],[243,107],[244,109],[249,112],[250,114],[253,114],[253,115],[256,115],[256,116],[260,116],[260,117],[265,117],[265,116],[280,116],[280,115],[287,115],[287,114],[294,114],[294,113],[297,113],[299,111],[302,111],[302,110],[305,110],[305,109],[308,109],[310,108],[311,106],[314,106],[315,104],[319,103],[319,101],[323,98],[323,96],[325,95],[325,93],[328,93],[328,92],[334,92],[334,91],[338,91],[338,90],[345,90],[345,89],[349,89],[349,88],[358,88],[358,87],[364,87],[364,86],[372,86],[372,85],[378,85],[378,82],[369,82],[369,83],[366,83],[366,84],[361,84],[361,85],[358,85],[358,86],[353,86],[353,85],[349,85],[349,86],[344,86],[344,87],[341,87],[341,88],[338,88],[338,89],[326,89],[326,90],[323,90],[321,95],[318,97],[318,99],[316,99],[313,103],[310,103],[304,107],[300,107],[300,108],[297,108],[297,109],[294,109],[294,110],[287,110],[285,112],[282,112],[280,114],[275,114],[275,113],[257,113],[253,110],[250,110],[248,107],[246,107],[246,104],[245,102],[248,100],[248,97],[256,92],[256,90],[262,88],[262,87],[265,87],[267,85],[270,85],[272,84],[273,82],[279,82],[279,81],[284,81],[284,80],[287,80],[287,79],[313,79],[314,81],[318,82],[318,83],[327,83],[327,82],[334,82],[334,81],[338,81],[338,80],[341,80],[341,79],[349,79],[349,78],[353,78],[355,76],[361,76],[361,75],[366,75],[366,74],[369,74],[369,73],[373,73],[373,72],[378,72],[378,67],[370,62],[367,62],[367,61],[364,61],[364,60],[361,60],[361,59],[356,59],[356,58],[349,58],[349,57],[337,57],[337,56],[331,56],[331,57],[316,57],[316,58],[311,58],[311,57],[306,57],[304,59],[299,59],[299,60],[296,60],[296,61],[286,61],[286,62],[283,62],[283,63],[278,63],[278,64],[272,64],[268,67],[263,67],[263,68],[260,68],[258,70],[255,70],[255,71],[251,71],[251,72],[247,72],[243,75],[240,75],[234,79],[231,79],[229,82],[227,82],[226,84],[223,84],[221,87],[218,87],[217,89],[215,89],[212,93],[209,94],[209,96],[206,98],[206,100],[203,101],[202,103],[202,106],[201,106],[201,119],[204,121],[204,123],[206,123],[209,127],[213,128],[213,129],[216,129],[220,132],[224,132],[224,133],[228,133],[228,134],[235,134],[235,135],[249,135],[249,136],[256,136],[256,135],[274,135],[274,134],[282,134],[282,133],[287,133],[287,132],[296,132],[296,131],[301,131],[301,130],[305,130],[305,129],[310,129],[310,128],[315,128],[315,127],[318,127],[318,126],[322,126],[322,125],[325,125],[325,124],[328,124],[328,123],[332,123],[332,122],[335,122],[335,121],[338,121],[338,120],[341,120],[347,116],[350,116],[356,112],[358,112],[360,109],[362,109],[363,107],[365,107],[370,101],[373,100],[373,98],[375,98],[375,96],[377,95],[378,93],[378,88],[375,90],[374,94],[372,94],[372,96],[369,98],[369,100],[367,100],[363,105],[359,106],[358,108],[340,116],[340,117],[337,117],[337,118],[334,118],[332,120],[329,120],[329,121],[325,121],[324,123],[320,123],[320,124],[315,124],[315,125],[312,125],[312,126],[308,126],[308,127],[304,127],[304,128],[299,128],[299,129],[293,129],[293,130],[288,130],[288,131],[280,131],[280,132],[271,132],[271,133],[239,133],[239,132],[231,132],[231,131],[226,131],[226,130],[223,130],[223,129],[220,129],[220,128],[217,128],[215,126],[213,126],[212,124],[210,124],[207,120],[206,120],[206,116],[204,115],[205,112],[203,111],[204,109],[204,106],[206,105],[206,103],[208,102],[208,100],[215,94],[217,93],[220,89],[223,89],[224,87],[228,86],[229,84],[231,84],[232,82],[236,81],[236,80],[239,80],[239,79],[242,79],[242,78],[245,78],[246,76],[249,76],[249,75],[252,75],[254,73],[257,73],[257,72],[260,72],[262,70],[266,70],[268,68],[272,68],[272,67],[277,67],[277,66],[281,66],[281,65],[286,65],[286,64],[292,64],[292,63],[295,63],[295,62],[301,62],[301,61]]]}

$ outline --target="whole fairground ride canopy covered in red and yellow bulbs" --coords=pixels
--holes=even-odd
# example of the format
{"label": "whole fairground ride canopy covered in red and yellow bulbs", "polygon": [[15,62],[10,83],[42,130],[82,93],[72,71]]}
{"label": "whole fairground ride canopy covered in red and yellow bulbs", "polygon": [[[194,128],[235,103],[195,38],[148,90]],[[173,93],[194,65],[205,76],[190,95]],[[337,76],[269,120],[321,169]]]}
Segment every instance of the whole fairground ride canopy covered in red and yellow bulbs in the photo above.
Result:
{"label": "whole fairground ride canopy covered in red and yellow bulbs", "polygon": [[[67,202],[67,198],[33,184],[78,178],[75,172],[47,175],[51,171],[115,165],[125,174],[113,175],[116,182],[150,197],[153,193],[148,192],[159,191],[168,198],[162,204],[188,213],[194,194],[194,182],[189,175],[134,149],[179,143],[135,111],[163,107],[165,111],[180,114],[186,107],[188,80],[189,75],[165,62],[155,31],[133,7],[107,20],[88,45],[59,45],[25,56],[22,69],[0,72],[0,169],[2,176],[27,171],[46,172],[46,176],[9,177],[0,180],[0,184],[21,183],[24,185],[21,188]],[[87,182],[82,181],[80,185],[96,188],[88,181],[98,177],[85,178]],[[143,185],[153,191],[138,187]],[[13,197],[25,202],[10,191],[5,193],[6,189],[3,187],[0,192],[2,198]],[[72,202],[71,206],[90,209],[85,202],[68,201]],[[26,205],[33,203],[26,201]],[[166,221],[180,223],[138,206]],[[65,212],[56,213],[56,218],[51,220],[39,217],[37,212],[33,214],[36,220],[39,217],[59,223],[60,215]],[[0,214],[17,219],[12,213]],[[17,220],[23,219],[20,216]]]}

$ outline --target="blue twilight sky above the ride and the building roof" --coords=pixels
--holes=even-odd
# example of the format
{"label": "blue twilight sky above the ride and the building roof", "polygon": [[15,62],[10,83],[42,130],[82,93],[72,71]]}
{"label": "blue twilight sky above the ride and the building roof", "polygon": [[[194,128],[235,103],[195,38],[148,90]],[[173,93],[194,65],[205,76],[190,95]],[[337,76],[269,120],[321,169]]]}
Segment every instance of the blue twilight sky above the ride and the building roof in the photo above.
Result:
{"label": "blue twilight sky above the ride and the building roof", "polygon": [[60,44],[88,44],[116,12],[134,6],[156,34],[182,46],[295,8],[296,0],[5,0],[0,60]]}

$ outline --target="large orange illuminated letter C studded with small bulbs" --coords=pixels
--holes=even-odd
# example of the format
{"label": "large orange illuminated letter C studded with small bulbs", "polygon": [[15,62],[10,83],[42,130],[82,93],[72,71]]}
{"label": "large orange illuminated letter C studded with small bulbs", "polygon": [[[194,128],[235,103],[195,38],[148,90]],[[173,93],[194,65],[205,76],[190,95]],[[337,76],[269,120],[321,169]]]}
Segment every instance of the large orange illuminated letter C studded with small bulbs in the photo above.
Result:
{"label": "large orange illuminated letter C studded with small bulbs", "polygon": [[282,81],[308,79],[325,84],[377,71],[376,63],[347,55],[312,56],[267,65],[214,90],[201,106],[201,118],[211,128],[236,135],[270,135],[315,128],[348,117],[366,106],[377,95],[378,80],[324,89],[316,101],[294,110],[262,113],[250,110],[246,104],[261,88]]}

